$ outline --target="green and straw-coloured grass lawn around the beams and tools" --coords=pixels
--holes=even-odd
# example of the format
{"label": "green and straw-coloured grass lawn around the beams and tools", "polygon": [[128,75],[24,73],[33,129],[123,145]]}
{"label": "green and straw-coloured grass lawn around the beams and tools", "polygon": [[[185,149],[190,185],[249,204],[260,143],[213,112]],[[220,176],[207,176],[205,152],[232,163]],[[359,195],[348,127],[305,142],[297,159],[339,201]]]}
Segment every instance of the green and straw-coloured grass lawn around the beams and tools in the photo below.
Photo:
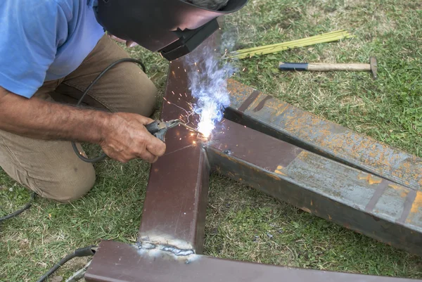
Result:
{"label": "green and straw-coloured grass lawn around the beams and tools", "polygon": [[[235,62],[236,79],[356,132],[422,157],[422,4],[413,0],[250,0],[225,19],[235,48],[345,29],[354,39]],[[148,75],[164,89],[167,63],[139,47]],[[279,61],[367,62],[366,72],[279,72]],[[37,198],[0,226],[0,281],[34,281],[68,252],[100,239],[134,243],[149,166],[106,160],[94,189],[72,205]],[[0,216],[30,198],[0,172]],[[160,207],[157,207],[160,208]],[[213,175],[205,253],[252,262],[422,278],[422,259]],[[87,259],[58,271],[68,277]]]}

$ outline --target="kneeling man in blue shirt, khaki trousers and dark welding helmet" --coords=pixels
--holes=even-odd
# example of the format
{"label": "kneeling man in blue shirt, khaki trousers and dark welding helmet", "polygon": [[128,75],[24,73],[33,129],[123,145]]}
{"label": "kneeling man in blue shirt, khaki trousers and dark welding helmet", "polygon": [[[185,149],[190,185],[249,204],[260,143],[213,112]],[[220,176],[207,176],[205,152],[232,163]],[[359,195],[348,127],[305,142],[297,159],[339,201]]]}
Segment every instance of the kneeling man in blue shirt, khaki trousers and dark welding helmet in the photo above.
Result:
{"label": "kneeling man in blue shirt, khaki trousers and dark welding helmet", "polygon": [[84,107],[75,104],[110,63],[129,57],[113,38],[173,60],[245,1],[1,0],[1,168],[39,196],[68,203],[96,178],[71,141],[99,144],[120,162],[155,162],[165,143],[145,126],[153,122],[157,89],[137,65],[116,65],[92,86]]}

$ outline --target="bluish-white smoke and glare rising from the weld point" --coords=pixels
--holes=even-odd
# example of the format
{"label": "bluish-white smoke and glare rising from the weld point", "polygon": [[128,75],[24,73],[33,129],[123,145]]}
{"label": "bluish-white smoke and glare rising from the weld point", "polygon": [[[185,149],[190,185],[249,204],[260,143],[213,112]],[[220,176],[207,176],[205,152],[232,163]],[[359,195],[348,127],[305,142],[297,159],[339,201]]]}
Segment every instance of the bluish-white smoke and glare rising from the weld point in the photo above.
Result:
{"label": "bluish-white smoke and glare rising from the weld point", "polygon": [[210,48],[200,48],[186,57],[189,89],[197,99],[193,110],[199,115],[198,131],[210,136],[215,124],[222,120],[224,108],[230,105],[227,79],[234,68]]}

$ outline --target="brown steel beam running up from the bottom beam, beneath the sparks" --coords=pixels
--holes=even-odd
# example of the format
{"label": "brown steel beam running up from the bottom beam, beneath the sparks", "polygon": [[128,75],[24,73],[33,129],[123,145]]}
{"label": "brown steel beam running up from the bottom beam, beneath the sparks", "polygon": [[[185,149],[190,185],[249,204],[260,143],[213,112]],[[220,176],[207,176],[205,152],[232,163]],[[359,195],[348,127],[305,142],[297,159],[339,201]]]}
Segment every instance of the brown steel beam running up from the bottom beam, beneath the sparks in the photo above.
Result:
{"label": "brown steel beam running up from the bottom beam, beneath the sparks", "polygon": [[[212,46],[216,40],[215,35],[204,44]],[[185,68],[184,59],[170,63],[162,120],[186,115],[183,109],[193,101]],[[196,121],[191,122],[196,127]],[[199,254],[203,250],[210,176],[205,150],[184,127],[171,129],[165,138],[166,153],[151,167],[139,241],[167,243]]]}

